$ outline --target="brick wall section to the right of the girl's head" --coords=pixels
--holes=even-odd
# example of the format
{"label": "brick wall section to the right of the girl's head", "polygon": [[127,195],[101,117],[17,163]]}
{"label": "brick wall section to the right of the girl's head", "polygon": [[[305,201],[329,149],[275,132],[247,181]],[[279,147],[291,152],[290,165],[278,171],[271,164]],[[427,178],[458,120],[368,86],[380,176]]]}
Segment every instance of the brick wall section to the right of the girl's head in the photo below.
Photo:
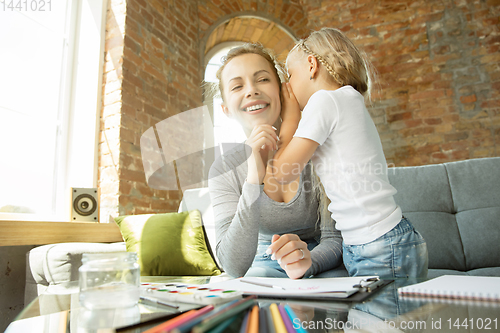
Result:
{"label": "brick wall section to the right of the girl's head", "polygon": [[500,1],[304,1],[378,70],[370,112],[388,162],[500,156]]}

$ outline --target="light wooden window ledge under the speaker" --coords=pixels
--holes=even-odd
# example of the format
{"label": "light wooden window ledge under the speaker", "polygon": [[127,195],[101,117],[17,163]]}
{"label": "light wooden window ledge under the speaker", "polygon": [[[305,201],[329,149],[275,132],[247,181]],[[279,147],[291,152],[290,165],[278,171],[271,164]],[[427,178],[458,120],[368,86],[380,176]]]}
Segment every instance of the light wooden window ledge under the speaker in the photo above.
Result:
{"label": "light wooden window ledge under the speaker", "polygon": [[115,223],[0,221],[0,246],[122,241]]}

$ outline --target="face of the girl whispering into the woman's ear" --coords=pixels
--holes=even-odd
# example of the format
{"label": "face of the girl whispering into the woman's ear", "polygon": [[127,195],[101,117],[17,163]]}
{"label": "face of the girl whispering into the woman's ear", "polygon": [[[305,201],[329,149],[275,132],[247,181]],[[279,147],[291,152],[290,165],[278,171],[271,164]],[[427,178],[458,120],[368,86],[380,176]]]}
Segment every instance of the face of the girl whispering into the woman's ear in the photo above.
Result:
{"label": "face of the girl whispering into the woman's ear", "polygon": [[297,51],[293,51],[286,60],[286,67],[293,94],[297,98],[297,102],[299,102],[300,109],[304,110],[307,101],[312,95],[307,57],[301,57],[297,54]]}

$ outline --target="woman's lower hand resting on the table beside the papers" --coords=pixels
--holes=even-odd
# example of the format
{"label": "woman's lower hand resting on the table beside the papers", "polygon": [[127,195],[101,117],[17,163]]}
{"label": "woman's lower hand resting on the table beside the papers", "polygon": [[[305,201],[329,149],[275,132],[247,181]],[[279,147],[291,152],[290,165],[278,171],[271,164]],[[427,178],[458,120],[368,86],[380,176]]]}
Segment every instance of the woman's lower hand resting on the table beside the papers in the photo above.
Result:
{"label": "woman's lower hand resting on the table beside the papers", "polygon": [[273,254],[271,258],[278,260],[281,268],[291,279],[302,278],[312,265],[307,243],[295,234],[273,235],[272,244],[266,253]]}

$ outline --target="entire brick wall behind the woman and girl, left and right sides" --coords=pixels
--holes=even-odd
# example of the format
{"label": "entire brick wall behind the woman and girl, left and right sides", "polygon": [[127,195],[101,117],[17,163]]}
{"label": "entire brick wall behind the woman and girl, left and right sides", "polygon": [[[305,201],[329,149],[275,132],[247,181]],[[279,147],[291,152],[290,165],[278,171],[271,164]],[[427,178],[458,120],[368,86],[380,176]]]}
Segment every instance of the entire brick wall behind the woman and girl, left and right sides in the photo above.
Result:
{"label": "entire brick wall behind the woman and girl, left and right sides", "polygon": [[[338,27],[365,50],[378,70],[369,110],[389,163],[500,156],[499,14],[498,0],[110,0],[101,220],[177,210],[180,191],[146,183],[141,135],[202,105],[203,56],[212,46],[262,40],[265,31],[303,38]],[[273,43],[289,47],[266,39]]]}

